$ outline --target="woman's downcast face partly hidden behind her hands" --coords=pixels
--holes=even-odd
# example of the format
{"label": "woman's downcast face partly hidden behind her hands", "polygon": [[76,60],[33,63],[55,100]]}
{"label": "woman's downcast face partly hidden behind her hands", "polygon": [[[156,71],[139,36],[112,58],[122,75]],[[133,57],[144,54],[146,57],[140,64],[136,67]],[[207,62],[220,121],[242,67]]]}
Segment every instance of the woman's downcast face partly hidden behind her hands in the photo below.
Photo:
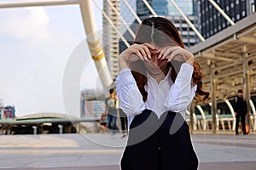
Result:
{"label": "woman's downcast face partly hidden behind her hands", "polygon": [[159,55],[158,50],[149,50],[151,52],[151,59],[148,59],[148,61],[144,60],[144,65],[146,66],[149,74],[152,76],[158,76],[161,74],[166,75],[169,71],[167,59],[157,59]]}

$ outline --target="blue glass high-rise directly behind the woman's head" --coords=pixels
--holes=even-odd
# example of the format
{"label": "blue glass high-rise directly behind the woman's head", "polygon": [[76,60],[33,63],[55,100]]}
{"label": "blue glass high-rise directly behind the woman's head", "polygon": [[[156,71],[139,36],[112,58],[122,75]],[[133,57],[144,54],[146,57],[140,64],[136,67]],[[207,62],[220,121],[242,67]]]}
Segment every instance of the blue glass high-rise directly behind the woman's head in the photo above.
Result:
{"label": "blue glass high-rise directly behind the woman's head", "polygon": [[[177,9],[174,8],[172,3],[169,0],[148,0],[148,3],[154,8],[156,14],[160,16],[165,16],[170,19],[172,23],[177,27],[177,30],[180,32],[183,37],[183,42],[186,47],[190,47],[195,45],[195,43],[199,42],[200,39],[195,34],[195,31],[189,26],[189,24],[183,19],[181,14],[177,12]],[[197,0],[180,0],[177,1],[177,6],[182,9],[183,13],[186,14],[189,20],[195,24],[197,27]],[[121,11],[125,8],[120,6]],[[137,15],[143,20],[148,16],[152,15],[149,11],[148,7],[145,5],[143,0],[137,0]],[[125,10],[125,9],[124,9]],[[125,16],[124,16],[125,18]],[[136,31],[137,22],[134,21],[134,24],[131,25],[131,29]],[[124,37],[132,42],[131,34],[126,31]],[[120,42],[119,51],[122,52],[126,48],[124,42]]]}

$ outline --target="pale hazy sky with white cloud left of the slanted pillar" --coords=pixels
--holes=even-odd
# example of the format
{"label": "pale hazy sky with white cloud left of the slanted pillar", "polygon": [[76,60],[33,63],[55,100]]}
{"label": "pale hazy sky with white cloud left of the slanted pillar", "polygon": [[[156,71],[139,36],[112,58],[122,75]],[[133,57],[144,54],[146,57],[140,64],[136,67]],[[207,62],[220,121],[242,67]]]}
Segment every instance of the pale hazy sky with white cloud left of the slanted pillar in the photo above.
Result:
{"label": "pale hazy sky with white cloud left of the slanted pillar", "polygon": [[[101,0],[97,2],[102,6]],[[94,13],[100,31],[102,14],[96,7]],[[15,105],[16,116],[66,113],[63,77],[76,54],[84,57],[79,91],[101,86],[85,38],[79,5],[0,8],[0,99],[4,105]]]}

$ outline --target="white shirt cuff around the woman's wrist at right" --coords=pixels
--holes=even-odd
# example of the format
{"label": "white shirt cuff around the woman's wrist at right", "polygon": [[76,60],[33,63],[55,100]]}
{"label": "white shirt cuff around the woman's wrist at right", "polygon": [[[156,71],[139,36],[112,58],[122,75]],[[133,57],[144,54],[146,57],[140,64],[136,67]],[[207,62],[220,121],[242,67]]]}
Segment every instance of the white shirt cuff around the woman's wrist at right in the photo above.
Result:
{"label": "white shirt cuff around the woman's wrist at right", "polygon": [[180,71],[177,74],[177,78],[182,79],[183,81],[191,82],[192,74],[194,67],[188,63],[183,63],[181,65]]}

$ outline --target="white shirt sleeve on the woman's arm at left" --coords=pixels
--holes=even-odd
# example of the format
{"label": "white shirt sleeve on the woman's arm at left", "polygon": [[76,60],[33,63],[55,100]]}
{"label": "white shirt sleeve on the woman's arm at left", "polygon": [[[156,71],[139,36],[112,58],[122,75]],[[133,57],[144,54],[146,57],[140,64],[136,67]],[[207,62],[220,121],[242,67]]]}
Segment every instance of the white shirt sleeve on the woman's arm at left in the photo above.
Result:
{"label": "white shirt sleeve on the woman's arm at left", "polygon": [[116,78],[116,91],[119,105],[128,116],[135,116],[145,110],[143,96],[137,88],[137,83],[128,68],[119,72]]}

